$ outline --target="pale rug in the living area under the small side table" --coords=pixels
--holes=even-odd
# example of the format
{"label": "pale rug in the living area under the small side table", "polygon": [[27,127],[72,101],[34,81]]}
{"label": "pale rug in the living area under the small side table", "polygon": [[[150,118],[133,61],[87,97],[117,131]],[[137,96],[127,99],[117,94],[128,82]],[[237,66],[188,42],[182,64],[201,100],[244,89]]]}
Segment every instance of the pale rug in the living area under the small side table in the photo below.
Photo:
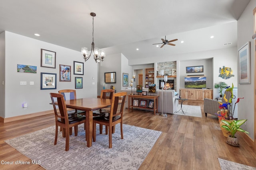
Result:
{"label": "pale rug in the living area under the small side table", "polygon": [[[180,109],[180,104],[178,105],[178,109]],[[182,112],[184,111],[184,113]],[[185,115],[185,116],[194,116],[194,117],[202,117],[201,107],[200,106],[190,106],[190,105],[182,105],[182,110],[175,112],[176,115]]]}

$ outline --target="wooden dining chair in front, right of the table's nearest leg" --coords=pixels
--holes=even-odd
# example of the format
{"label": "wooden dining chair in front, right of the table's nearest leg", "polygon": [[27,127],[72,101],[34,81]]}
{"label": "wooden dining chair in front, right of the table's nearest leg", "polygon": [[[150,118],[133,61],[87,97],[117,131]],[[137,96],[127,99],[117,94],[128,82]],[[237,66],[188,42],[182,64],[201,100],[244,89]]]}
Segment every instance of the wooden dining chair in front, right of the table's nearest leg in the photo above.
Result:
{"label": "wooden dining chair in front, right of the table's nearest leg", "polygon": [[[124,103],[127,93],[126,92],[118,92],[113,94],[110,112],[105,116],[94,117],[93,118],[93,133],[92,138],[93,141],[96,141],[96,123],[100,125],[105,125],[108,128],[108,139],[109,139],[109,148],[112,148],[112,130],[114,126],[120,123],[120,131],[121,131],[121,139],[124,139],[123,136],[123,111],[124,111]],[[119,104],[121,102],[121,104]]]}

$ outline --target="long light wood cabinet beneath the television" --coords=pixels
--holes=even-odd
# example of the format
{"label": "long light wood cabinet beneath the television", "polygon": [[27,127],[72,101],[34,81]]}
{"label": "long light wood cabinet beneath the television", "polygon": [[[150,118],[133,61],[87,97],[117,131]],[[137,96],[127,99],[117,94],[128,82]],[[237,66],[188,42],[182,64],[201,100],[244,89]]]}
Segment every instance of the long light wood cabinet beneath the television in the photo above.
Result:
{"label": "long light wood cabinet beneath the television", "polygon": [[181,88],[180,97],[188,100],[203,101],[204,98],[212,99],[212,89],[190,89]]}

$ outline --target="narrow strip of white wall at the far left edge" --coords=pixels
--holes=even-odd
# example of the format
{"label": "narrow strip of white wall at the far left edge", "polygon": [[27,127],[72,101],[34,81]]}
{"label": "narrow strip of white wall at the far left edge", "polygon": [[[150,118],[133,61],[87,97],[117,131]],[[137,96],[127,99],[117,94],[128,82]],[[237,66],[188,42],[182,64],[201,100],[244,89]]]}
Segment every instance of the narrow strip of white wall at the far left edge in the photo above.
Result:
{"label": "narrow strip of white wall at the far left edge", "polygon": [[[4,117],[4,86],[5,86],[5,33],[0,34],[0,117]],[[3,84],[4,83],[4,84]]]}

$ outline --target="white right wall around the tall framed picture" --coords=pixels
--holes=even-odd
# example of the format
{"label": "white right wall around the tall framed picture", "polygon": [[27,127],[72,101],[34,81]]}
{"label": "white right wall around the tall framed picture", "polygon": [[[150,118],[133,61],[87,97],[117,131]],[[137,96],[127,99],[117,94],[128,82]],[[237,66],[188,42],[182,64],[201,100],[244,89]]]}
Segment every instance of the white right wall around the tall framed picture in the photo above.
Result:
{"label": "white right wall around the tall framed picture", "polygon": [[238,103],[238,119],[248,119],[242,129],[248,131],[250,138],[254,140],[254,68],[255,68],[255,40],[253,9],[256,7],[256,0],[251,0],[238,20],[238,41],[237,49],[240,49],[246,42],[250,41],[251,56],[251,84],[238,84],[238,96],[245,99]]}

